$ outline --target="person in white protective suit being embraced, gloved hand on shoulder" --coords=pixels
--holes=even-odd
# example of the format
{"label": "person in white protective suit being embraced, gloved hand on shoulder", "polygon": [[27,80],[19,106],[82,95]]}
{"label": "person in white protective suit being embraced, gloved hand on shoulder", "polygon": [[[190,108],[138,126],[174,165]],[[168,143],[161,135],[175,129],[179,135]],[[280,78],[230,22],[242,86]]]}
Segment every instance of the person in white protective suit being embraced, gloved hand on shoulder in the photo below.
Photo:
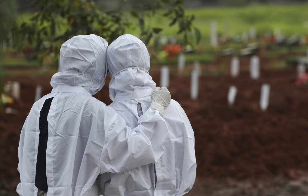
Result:
{"label": "person in white protective suit being embraced, gloved hand on shoulder", "polygon": [[[109,106],[134,128],[139,116],[151,105],[156,87],[148,74],[150,56],[144,43],[133,35],[121,35],[108,46],[107,66],[111,81]],[[142,115],[143,114],[143,115]],[[164,154],[155,163],[123,173],[105,173],[99,178],[99,193],[115,195],[183,195],[196,177],[194,133],[179,103],[171,99],[163,118],[169,129],[163,142]]]}

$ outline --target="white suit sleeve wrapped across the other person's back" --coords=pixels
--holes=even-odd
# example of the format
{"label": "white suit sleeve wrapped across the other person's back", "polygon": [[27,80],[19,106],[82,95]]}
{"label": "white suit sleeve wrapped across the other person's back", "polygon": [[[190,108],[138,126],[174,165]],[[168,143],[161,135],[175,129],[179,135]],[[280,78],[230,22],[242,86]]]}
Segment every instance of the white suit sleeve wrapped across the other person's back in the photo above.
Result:
{"label": "white suit sleeve wrapped across the other person's back", "polygon": [[168,134],[166,122],[158,111],[150,108],[139,118],[139,123],[131,129],[120,115],[116,115],[105,135],[100,157],[101,173],[121,173],[160,158],[164,152],[162,143]]}

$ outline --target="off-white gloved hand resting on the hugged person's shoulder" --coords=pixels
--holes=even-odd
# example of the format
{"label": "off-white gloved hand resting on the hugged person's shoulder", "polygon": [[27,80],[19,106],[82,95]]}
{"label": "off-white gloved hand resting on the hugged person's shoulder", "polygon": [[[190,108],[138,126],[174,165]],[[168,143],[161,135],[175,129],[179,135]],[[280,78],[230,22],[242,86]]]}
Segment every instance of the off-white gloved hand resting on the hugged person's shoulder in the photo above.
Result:
{"label": "off-white gloved hand resting on the hugged person's shoulder", "polygon": [[164,115],[164,108],[170,104],[171,95],[166,87],[155,87],[152,93],[152,103],[153,109],[159,111],[160,115]]}

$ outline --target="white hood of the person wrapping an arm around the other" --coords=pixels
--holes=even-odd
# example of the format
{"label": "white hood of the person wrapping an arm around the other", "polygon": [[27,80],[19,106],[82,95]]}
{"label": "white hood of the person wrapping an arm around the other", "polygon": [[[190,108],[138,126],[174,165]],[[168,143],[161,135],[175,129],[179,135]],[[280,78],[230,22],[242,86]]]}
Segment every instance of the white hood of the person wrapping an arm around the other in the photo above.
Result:
{"label": "white hood of the person wrapping an arm around the other", "polygon": [[62,72],[53,75],[51,86],[81,86],[96,94],[106,80],[107,46],[107,41],[94,34],[77,35],[64,42],[60,48]]}

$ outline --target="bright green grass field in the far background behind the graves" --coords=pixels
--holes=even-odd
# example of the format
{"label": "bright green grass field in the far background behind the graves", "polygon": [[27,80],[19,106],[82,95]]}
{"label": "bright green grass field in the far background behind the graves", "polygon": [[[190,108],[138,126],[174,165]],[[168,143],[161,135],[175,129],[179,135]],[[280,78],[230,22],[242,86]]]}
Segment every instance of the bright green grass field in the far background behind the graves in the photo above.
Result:
{"label": "bright green grass field in the far background behind the graves", "polygon": [[[226,26],[229,26],[229,35],[241,35],[243,31],[249,31],[250,27],[257,29],[258,35],[264,31],[274,31],[280,28],[285,35],[306,35],[308,32],[308,4],[271,5],[253,4],[243,7],[206,7],[185,10],[187,15],[195,15],[193,25],[199,28],[204,43],[209,42],[210,22],[217,21],[219,34],[225,34]],[[168,27],[170,20],[162,16],[163,11],[150,19],[153,27],[163,27],[166,36],[175,35],[176,25]],[[147,20],[146,20],[147,21]],[[148,20],[149,21],[149,20]],[[305,27],[305,25],[306,27]],[[127,33],[138,35],[138,28],[132,27]]]}

